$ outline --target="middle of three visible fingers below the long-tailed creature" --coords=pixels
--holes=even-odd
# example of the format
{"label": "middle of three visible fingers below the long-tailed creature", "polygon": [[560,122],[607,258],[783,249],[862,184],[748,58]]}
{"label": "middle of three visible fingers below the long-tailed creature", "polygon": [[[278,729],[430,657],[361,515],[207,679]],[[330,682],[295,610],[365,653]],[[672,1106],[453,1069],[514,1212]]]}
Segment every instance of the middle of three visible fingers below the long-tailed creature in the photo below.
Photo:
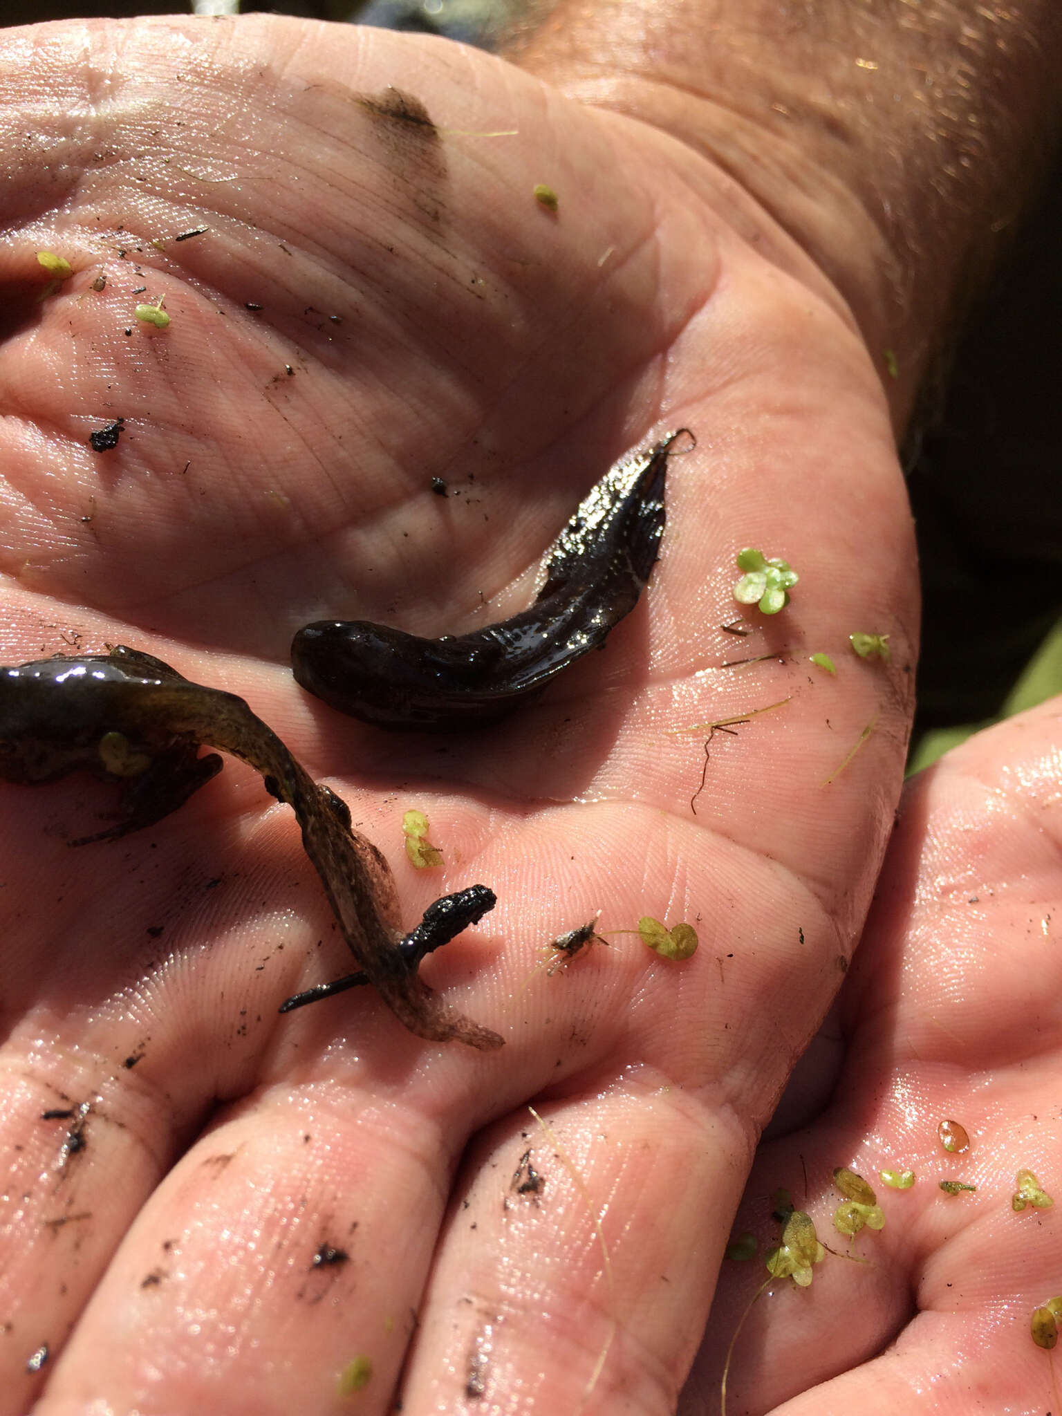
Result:
{"label": "middle of three visible fingers below the long-tailed creature", "polygon": [[[238,1103],[136,1216],[35,1410],[391,1410],[449,1188],[341,1055]],[[93,1405],[95,1403],[95,1405]]]}

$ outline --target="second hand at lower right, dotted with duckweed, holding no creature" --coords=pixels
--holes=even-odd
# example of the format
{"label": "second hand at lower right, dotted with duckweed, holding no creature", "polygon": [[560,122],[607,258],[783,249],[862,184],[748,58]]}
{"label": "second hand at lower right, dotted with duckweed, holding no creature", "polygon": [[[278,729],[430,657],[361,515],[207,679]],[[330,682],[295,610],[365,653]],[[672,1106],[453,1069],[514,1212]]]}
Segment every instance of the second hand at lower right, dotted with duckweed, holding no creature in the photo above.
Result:
{"label": "second hand at lower right, dotted with duckweed, holding no creature", "polygon": [[[731,1413],[909,1416],[1054,1410],[1056,1358],[1034,1308],[1062,1290],[1058,753],[1062,700],[949,753],[909,784],[875,905],[840,997],[835,1090],[809,1126],[760,1146],[735,1228],[777,1243],[776,1187],[827,1255],[809,1289],[775,1283],[749,1311]],[[947,1154],[954,1119],[969,1150]],[[841,1238],[831,1184],[869,1181],[885,1228]],[[913,1170],[908,1191],[879,1170]],[[1017,1171],[1055,1201],[1015,1214]],[[974,1185],[943,1194],[940,1180]],[[726,1348],[765,1277],[725,1264],[680,1416],[719,1409]]]}

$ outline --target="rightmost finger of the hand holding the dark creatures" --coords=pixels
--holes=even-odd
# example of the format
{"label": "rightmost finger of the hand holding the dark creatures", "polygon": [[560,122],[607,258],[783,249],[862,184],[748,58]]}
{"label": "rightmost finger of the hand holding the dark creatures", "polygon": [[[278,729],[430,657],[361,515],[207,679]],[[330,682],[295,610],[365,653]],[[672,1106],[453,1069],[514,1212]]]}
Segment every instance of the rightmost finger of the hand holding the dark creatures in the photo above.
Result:
{"label": "rightmost finger of the hand holding the dark creatures", "polygon": [[746,1140],[637,1068],[494,1127],[455,1192],[404,1409],[673,1410]]}

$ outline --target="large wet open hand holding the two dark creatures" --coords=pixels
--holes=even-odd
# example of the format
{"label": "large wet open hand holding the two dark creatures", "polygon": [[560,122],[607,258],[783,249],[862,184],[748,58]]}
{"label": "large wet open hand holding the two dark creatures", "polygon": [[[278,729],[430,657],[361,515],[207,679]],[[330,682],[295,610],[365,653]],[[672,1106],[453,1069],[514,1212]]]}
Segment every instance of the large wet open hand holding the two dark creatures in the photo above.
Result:
{"label": "large wet open hand holding the two dark creatures", "polygon": [[[497,891],[423,973],[506,1046],[425,1046],[368,990],[278,1018],[351,964],[238,765],[78,852],[96,783],[0,790],[0,1412],[343,1410],[357,1358],[364,1412],[670,1410],[899,790],[912,538],[847,307],[701,156],[481,54],[263,18],[3,47],[4,661],[122,641],[244,695],[406,923]],[[37,251],[75,270],[44,300]],[[644,603],[508,724],[392,738],[295,687],[306,620],[527,603],[612,459],[681,425]],[[749,545],[800,583],[735,639]],[[709,731],[673,729],[782,700],[715,736],[694,816]],[[443,872],[405,862],[411,806]],[[598,909],[612,946],[534,974]],[[617,933],[641,915],[700,952]]]}

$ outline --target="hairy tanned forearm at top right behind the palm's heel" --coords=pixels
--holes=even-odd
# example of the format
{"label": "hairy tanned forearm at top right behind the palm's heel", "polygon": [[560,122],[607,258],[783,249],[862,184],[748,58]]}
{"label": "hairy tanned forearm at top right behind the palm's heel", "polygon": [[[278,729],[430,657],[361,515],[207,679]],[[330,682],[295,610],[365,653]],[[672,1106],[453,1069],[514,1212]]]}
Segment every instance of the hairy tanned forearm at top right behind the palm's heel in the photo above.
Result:
{"label": "hairy tanned forearm at top right behind the palm's heel", "polygon": [[735,177],[848,300],[902,409],[1062,116],[1059,0],[558,0],[508,55]]}

